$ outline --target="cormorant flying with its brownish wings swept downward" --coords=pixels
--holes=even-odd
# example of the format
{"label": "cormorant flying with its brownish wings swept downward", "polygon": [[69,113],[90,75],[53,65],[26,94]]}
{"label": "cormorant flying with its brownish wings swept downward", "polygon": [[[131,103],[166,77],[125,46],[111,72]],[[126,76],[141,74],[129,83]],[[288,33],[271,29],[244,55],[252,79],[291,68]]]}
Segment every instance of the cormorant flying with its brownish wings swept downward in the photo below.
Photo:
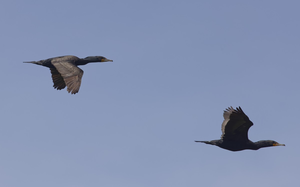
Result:
{"label": "cormorant flying with its brownish wings swept downward", "polygon": [[53,80],[53,87],[58,90],[64,89],[67,85],[67,91],[72,94],[76,94],[81,84],[81,78],[83,75],[82,69],[77,66],[85,65],[91,62],[107,62],[107,58],[96,56],[78,58],[75,56],[62,56],[49,58],[47,60],[32,61],[25,63],[34,63],[50,68]]}

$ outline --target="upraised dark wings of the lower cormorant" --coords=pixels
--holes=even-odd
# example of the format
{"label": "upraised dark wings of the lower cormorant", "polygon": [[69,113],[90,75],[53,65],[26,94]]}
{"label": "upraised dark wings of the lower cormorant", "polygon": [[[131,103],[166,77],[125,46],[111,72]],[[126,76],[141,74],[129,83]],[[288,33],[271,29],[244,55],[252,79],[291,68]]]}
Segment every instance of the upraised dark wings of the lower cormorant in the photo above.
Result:
{"label": "upraised dark wings of the lower cormorant", "polygon": [[248,140],[248,130],[253,125],[241,107],[224,110],[221,139]]}

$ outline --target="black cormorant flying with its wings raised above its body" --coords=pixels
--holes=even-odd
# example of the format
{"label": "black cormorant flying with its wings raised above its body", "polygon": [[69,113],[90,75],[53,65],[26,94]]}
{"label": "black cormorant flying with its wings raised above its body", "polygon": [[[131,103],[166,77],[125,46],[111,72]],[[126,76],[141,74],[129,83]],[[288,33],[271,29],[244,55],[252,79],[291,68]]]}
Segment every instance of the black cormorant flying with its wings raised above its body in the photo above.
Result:
{"label": "black cormorant flying with its wings raised above its body", "polygon": [[[222,123],[222,136],[220,140],[195,141],[216,145],[220,148],[239,151],[245,149],[258,150],[260,148],[284,145],[273,140],[251,142],[248,139],[248,130],[253,125],[241,107],[234,110],[232,107],[224,110]],[[285,145],[284,145],[285,146]]]}

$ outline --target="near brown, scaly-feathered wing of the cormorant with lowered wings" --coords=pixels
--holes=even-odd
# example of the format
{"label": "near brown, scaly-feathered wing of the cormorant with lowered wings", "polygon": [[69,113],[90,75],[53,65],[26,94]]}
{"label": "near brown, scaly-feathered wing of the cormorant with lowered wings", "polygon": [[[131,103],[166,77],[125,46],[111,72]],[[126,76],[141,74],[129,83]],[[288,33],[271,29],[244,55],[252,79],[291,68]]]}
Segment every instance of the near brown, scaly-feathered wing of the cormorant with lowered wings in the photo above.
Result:
{"label": "near brown, scaly-feathered wing of the cormorant with lowered wings", "polygon": [[[82,69],[75,65],[75,60],[54,59],[51,61],[53,66],[61,74],[67,85],[67,91],[76,94],[79,91],[81,78],[83,75]],[[53,75],[53,74],[52,74]]]}

